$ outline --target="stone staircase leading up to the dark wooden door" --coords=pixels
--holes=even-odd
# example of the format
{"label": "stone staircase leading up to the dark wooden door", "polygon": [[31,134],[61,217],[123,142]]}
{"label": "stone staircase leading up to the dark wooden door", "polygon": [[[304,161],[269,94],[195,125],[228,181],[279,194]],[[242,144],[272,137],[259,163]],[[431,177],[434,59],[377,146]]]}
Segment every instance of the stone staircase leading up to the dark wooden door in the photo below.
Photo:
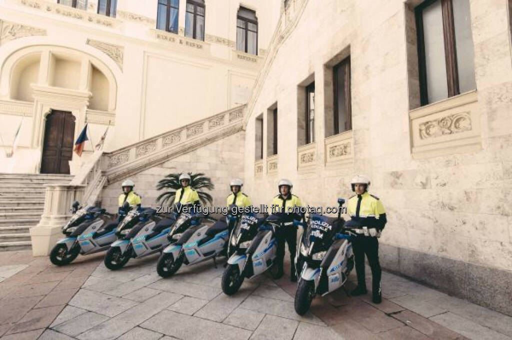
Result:
{"label": "stone staircase leading up to the dark wooden door", "polygon": [[71,175],[0,173],[0,252],[31,248],[29,230],[41,217],[45,184],[69,183]]}

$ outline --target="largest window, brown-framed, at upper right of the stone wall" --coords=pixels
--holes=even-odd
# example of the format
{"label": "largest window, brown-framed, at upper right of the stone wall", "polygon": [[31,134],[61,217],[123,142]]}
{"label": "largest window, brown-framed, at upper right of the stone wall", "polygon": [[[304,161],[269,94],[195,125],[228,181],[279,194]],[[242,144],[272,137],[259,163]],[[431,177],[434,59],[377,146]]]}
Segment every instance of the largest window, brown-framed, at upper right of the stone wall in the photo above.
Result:
{"label": "largest window, brown-framed, at upper right of the stone wall", "polygon": [[469,0],[416,7],[421,105],[476,89]]}

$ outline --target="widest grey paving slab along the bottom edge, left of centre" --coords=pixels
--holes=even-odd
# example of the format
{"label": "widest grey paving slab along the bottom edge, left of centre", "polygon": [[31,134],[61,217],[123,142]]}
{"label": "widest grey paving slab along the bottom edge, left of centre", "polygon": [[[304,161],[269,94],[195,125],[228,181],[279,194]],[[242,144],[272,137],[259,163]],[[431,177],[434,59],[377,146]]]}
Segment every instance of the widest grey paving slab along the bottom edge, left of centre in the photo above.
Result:
{"label": "widest grey paving slab along the bottom edge, left of centre", "polygon": [[229,326],[195,316],[163,310],[141,325],[158,333],[175,336],[183,340],[248,339],[251,331]]}

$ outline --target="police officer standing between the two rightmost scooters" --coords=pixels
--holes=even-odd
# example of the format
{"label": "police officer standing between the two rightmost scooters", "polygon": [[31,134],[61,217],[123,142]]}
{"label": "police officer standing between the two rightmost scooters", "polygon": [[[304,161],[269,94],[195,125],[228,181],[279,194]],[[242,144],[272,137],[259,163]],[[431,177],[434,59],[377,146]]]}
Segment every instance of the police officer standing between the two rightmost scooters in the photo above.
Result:
{"label": "police officer standing between the two rightmost scooters", "polygon": [[[292,195],[291,189],[293,185],[288,179],[281,179],[278,183],[279,194],[272,199],[272,213],[283,212],[287,213],[289,207],[301,207],[301,199]],[[290,220],[292,218],[290,217]],[[280,230],[276,231],[275,237],[278,241],[277,249],[277,263],[279,264],[279,271],[276,279],[283,276],[283,261],[285,257],[285,242],[288,243],[288,251],[290,252],[290,281],[297,281],[297,274],[295,273],[295,252],[297,248],[297,229],[294,225],[281,225]]]}

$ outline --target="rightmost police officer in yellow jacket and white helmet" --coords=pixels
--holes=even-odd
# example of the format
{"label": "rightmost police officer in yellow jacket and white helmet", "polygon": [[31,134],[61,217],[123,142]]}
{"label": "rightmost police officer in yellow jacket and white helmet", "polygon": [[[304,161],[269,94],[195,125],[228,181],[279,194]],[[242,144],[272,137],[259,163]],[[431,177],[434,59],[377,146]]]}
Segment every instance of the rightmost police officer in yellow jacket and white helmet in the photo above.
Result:
{"label": "rightmost police officer in yellow jacket and white helmet", "polygon": [[354,229],[357,237],[352,240],[355,255],[355,269],[357,273],[357,287],[352,290],[353,296],[366,294],[365,282],[365,254],[372,269],[372,301],[380,303],[381,289],[379,264],[380,233],[386,225],[386,211],[382,201],[368,193],[370,179],[365,175],[356,175],[351,181],[352,191],[356,195],[349,198],[347,211],[351,220],[345,223],[347,228]]}

